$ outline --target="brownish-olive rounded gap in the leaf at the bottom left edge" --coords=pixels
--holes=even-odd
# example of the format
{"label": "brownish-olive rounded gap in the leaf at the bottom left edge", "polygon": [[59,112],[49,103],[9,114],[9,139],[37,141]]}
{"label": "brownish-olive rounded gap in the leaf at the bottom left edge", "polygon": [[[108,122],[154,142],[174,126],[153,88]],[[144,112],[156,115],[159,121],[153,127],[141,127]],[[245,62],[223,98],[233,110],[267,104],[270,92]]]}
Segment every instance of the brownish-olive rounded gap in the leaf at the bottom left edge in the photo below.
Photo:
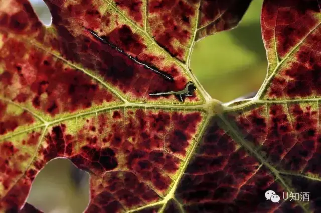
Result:
{"label": "brownish-olive rounded gap in the leaf at the bottom left edge", "polygon": [[89,174],[68,159],[54,159],[36,176],[27,202],[48,213],[83,212],[89,203]]}

